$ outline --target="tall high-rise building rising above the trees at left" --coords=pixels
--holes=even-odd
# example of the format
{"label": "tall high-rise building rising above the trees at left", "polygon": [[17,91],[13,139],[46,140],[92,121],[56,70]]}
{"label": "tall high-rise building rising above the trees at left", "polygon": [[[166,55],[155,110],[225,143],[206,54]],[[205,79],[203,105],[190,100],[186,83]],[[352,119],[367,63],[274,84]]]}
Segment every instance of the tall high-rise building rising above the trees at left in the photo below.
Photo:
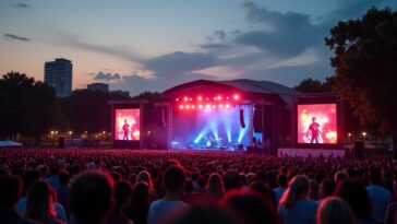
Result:
{"label": "tall high-rise building rising above the trees at left", "polygon": [[56,89],[57,96],[65,97],[72,93],[72,61],[57,58],[44,66],[44,82]]}

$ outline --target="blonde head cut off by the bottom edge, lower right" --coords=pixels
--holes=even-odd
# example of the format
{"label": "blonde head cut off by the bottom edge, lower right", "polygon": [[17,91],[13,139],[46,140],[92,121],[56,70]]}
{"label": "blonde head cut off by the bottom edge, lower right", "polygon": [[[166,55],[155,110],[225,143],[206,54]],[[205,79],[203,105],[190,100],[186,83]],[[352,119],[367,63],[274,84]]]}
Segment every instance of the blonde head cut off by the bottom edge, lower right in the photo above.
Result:
{"label": "blonde head cut off by the bottom edge, lower right", "polygon": [[317,224],[356,224],[349,204],[338,197],[324,199],[317,210]]}

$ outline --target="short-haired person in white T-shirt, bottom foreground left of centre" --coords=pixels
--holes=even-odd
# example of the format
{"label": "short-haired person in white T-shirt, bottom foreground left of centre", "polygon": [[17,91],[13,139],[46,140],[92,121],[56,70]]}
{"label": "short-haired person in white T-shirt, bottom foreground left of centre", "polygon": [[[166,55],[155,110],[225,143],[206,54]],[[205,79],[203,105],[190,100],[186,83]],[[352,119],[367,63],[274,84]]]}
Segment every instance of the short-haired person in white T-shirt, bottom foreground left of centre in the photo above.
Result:
{"label": "short-haired person in white T-shirt, bottom foreground left of centre", "polygon": [[181,166],[173,165],[166,169],[164,174],[166,196],[151,204],[147,214],[148,224],[164,223],[178,212],[182,212],[189,208],[189,205],[181,200],[185,181],[187,175]]}

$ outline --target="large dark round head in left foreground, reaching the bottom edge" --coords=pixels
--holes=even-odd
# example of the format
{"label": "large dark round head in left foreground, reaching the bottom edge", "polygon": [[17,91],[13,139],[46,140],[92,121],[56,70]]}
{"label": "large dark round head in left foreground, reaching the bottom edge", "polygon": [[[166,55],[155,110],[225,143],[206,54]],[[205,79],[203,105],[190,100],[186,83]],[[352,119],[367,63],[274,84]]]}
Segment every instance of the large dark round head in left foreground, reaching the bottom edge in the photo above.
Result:
{"label": "large dark round head in left foreground, reaching the bottom edge", "polygon": [[71,187],[71,210],[79,224],[101,223],[115,204],[115,182],[107,173],[87,172]]}

